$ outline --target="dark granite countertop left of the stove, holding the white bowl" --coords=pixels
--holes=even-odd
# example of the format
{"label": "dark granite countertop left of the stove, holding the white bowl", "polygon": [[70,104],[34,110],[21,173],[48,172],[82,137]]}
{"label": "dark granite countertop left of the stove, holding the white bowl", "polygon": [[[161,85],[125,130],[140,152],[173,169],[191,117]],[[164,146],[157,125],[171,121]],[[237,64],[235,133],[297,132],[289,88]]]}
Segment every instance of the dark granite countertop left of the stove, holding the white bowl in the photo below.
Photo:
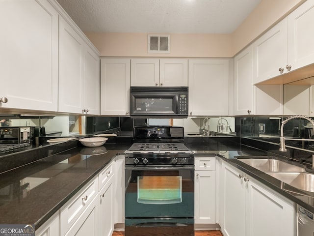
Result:
{"label": "dark granite countertop left of the stove, holding the white bowl", "polygon": [[38,229],[130,145],[103,147],[104,154],[76,147],[0,174],[0,224],[35,224]]}

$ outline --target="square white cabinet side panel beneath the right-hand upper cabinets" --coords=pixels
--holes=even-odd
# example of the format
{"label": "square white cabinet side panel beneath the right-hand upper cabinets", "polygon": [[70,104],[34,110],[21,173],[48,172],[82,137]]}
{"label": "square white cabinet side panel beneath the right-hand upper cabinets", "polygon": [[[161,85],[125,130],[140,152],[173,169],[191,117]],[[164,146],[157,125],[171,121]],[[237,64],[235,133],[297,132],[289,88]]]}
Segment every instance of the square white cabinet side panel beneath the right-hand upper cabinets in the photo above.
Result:
{"label": "square white cabinet side panel beneath the right-hand upper cabinets", "polygon": [[254,86],[254,115],[282,115],[283,86]]}

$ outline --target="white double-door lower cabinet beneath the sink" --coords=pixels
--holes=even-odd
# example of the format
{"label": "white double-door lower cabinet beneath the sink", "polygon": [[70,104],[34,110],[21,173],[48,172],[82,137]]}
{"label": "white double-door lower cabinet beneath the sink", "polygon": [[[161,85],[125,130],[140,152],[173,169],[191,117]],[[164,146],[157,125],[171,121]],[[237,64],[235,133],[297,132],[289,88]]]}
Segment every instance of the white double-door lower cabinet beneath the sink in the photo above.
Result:
{"label": "white double-door lower cabinet beneath the sink", "polygon": [[296,236],[294,203],[227,163],[222,172],[224,236]]}

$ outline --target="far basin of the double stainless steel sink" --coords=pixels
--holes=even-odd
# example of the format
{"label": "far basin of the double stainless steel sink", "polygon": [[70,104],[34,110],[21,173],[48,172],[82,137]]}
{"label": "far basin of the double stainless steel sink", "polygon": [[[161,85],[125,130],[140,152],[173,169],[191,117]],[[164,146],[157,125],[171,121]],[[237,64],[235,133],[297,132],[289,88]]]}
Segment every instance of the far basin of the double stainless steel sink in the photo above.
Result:
{"label": "far basin of the double stainless steel sink", "polygon": [[276,159],[238,159],[262,172],[305,172],[299,166]]}

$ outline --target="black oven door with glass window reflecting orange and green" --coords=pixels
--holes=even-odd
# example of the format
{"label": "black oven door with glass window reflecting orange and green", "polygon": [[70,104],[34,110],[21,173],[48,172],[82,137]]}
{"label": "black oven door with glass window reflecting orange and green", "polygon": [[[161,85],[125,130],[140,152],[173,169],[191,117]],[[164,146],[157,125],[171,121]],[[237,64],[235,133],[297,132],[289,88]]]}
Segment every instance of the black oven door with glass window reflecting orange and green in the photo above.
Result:
{"label": "black oven door with glass window reflecting orange and green", "polygon": [[193,218],[194,167],[127,167],[126,218]]}

